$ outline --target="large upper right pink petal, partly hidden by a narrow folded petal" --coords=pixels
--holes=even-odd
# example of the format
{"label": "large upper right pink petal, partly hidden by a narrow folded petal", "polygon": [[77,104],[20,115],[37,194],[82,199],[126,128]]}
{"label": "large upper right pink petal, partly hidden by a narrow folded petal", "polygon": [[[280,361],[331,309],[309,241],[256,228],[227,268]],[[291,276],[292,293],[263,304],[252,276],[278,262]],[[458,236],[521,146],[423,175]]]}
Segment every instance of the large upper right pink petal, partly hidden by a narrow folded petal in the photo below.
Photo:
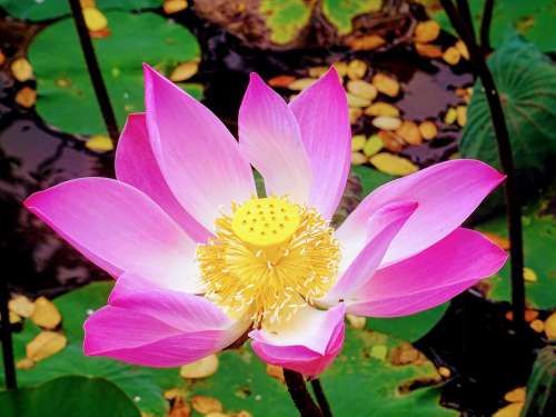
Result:
{"label": "large upper right pink petal, partly hidden by a narrow folded petal", "polygon": [[419,207],[386,252],[388,265],[434,245],[449,235],[496,188],[504,176],[484,162],[459,159],[437,163],[414,175],[388,182],[357,207],[337,231],[341,241],[365,240],[366,224],[381,206],[398,200],[417,201]]}

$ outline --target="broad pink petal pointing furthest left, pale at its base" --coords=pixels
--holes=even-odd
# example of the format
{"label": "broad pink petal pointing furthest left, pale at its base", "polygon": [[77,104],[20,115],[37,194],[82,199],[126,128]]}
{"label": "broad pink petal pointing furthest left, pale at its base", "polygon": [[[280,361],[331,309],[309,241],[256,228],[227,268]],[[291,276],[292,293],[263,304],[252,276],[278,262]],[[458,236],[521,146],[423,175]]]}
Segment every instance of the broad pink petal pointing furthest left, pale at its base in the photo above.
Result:
{"label": "broad pink petal pointing furthest left, pale at its base", "polygon": [[148,196],[109,178],[80,178],[37,192],[26,207],[113,276],[155,277],[197,291],[195,242]]}

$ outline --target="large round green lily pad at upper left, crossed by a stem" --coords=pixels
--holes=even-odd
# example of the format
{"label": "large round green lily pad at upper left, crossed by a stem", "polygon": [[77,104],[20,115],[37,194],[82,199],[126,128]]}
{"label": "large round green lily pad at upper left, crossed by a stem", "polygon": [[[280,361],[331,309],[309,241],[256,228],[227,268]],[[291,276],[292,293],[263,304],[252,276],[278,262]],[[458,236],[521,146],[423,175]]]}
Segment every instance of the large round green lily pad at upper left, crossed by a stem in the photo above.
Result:
{"label": "large round green lily pad at upper left, crossed by a stem", "polygon": [[[155,13],[106,13],[110,34],[93,39],[118,125],[143,109],[142,62],[169,72],[179,62],[198,60],[197,39],[186,28]],[[148,37],[139,33],[150,33]],[[49,125],[81,135],[106,135],[76,28],[63,19],[32,41],[29,59],[37,77],[37,111]],[[199,98],[198,85],[180,85]]]}

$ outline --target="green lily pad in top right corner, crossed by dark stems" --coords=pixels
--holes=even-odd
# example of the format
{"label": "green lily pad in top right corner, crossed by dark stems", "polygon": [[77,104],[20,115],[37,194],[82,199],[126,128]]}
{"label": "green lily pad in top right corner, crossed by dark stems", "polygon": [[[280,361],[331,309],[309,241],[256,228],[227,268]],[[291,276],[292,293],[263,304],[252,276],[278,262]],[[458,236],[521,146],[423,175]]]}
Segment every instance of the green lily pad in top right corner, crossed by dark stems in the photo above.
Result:
{"label": "green lily pad in top right corner, crossed by dark stems", "polygon": [[[429,7],[431,17],[443,29],[455,33],[448,17],[438,6],[438,1],[420,0]],[[485,0],[469,0],[477,34],[480,30]],[[494,47],[503,43],[508,29],[517,30],[527,40],[543,51],[556,50],[556,38],[552,26],[556,19],[556,2],[553,0],[505,0],[496,1],[490,26],[490,42]]]}

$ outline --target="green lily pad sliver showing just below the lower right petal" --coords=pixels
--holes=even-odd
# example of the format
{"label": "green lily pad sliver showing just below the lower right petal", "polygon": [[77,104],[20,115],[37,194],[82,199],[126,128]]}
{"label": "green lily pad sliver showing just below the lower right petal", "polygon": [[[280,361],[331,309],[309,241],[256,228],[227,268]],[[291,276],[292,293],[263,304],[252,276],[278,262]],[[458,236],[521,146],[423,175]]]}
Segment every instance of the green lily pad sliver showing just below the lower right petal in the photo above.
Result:
{"label": "green lily pad sliver showing just below the lower right petal", "polygon": [[368,318],[367,328],[407,341],[416,341],[428,334],[444,317],[449,302],[406,317]]}

